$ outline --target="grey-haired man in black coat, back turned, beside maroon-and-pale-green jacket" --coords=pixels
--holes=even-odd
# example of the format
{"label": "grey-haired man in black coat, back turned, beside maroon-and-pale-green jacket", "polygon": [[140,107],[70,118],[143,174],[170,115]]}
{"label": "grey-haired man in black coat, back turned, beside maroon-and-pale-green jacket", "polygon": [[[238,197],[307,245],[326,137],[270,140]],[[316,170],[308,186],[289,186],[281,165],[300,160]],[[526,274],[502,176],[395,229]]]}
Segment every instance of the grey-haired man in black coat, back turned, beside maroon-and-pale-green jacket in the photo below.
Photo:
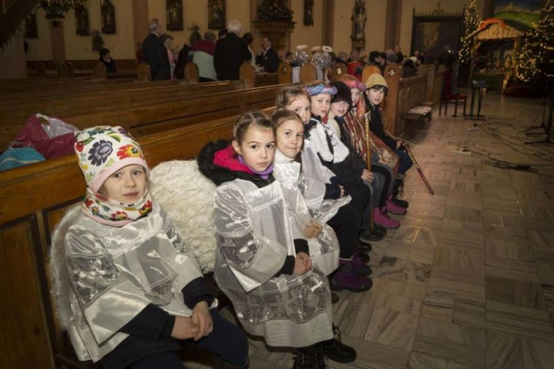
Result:
{"label": "grey-haired man in black coat, back turned, beside maroon-and-pale-green jacket", "polygon": [[229,33],[215,44],[214,67],[219,81],[239,79],[242,63],[252,58],[246,41],[239,38],[241,28],[241,23],[237,19],[229,21]]}

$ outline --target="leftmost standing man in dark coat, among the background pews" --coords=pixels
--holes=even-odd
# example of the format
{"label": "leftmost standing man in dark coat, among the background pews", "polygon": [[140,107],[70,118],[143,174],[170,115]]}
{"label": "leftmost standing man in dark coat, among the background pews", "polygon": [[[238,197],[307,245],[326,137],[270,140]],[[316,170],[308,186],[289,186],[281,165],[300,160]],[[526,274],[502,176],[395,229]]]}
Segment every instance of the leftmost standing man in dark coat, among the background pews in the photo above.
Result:
{"label": "leftmost standing man in dark coat, among the background pews", "polygon": [[144,61],[150,65],[150,73],[153,81],[171,78],[168,50],[160,38],[161,27],[158,21],[151,21],[148,25],[148,36],[142,43]]}

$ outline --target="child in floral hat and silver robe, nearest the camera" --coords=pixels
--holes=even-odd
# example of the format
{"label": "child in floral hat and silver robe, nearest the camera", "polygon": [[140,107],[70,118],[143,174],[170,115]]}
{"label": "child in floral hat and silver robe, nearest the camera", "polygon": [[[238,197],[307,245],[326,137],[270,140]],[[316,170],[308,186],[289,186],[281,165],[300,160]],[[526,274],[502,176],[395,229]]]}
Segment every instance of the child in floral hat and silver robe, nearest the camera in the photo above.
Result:
{"label": "child in floral hat and silver robe, nearest the camera", "polygon": [[65,234],[55,234],[65,257],[53,269],[56,285],[69,287],[58,288],[60,312],[78,358],[184,368],[174,352],[183,342],[246,368],[246,336],[214,309],[192,252],[148,193],[139,143],[121,127],[99,126],[77,136],[75,153],[87,193],[75,218],[64,219]]}

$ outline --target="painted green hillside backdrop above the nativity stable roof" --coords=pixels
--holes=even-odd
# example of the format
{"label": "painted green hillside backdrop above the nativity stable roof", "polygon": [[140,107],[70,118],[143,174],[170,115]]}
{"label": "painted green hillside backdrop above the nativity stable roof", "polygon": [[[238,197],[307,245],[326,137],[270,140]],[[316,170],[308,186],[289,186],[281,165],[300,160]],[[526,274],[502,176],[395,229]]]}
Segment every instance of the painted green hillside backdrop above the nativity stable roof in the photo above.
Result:
{"label": "painted green hillside backdrop above the nativity stable roof", "polygon": [[[501,18],[514,26],[533,27],[533,23],[541,20],[541,9],[545,0],[494,0],[494,18]],[[520,27],[518,27],[520,28]]]}

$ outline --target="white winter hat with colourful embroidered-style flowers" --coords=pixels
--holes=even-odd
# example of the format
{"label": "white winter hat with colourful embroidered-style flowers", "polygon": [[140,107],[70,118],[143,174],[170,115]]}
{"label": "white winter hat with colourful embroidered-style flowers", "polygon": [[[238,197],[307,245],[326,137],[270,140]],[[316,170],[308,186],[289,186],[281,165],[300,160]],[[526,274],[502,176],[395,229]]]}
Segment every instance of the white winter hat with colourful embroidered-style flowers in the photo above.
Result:
{"label": "white winter hat with colourful embroidered-style flowers", "polygon": [[148,175],[148,165],[139,143],[124,128],[97,126],[77,135],[75,154],[87,186],[98,192],[114,172],[127,165],[142,165]]}

